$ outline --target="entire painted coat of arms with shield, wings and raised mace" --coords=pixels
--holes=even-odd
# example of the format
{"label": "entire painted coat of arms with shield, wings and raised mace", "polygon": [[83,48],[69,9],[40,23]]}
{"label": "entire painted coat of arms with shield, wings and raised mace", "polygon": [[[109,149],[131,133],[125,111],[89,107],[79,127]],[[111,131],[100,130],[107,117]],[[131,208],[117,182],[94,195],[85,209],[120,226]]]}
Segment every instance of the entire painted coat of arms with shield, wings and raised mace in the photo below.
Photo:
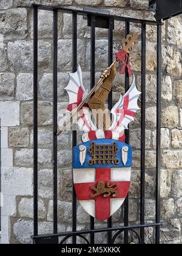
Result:
{"label": "entire painted coat of arms with shield, wings and raised mace", "polygon": [[[126,144],[124,130],[135,118],[140,91],[136,88],[135,75],[129,63],[137,44],[138,34],[128,35],[122,41],[123,50],[116,53],[112,65],[104,71],[90,93],[83,85],[81,67],[70,73],[69,106],[72,123],[83,130],[83,143],[73,149],[73,182],[76,196],[89,215],[104,221],[113,215],[123,204],[130,187],[132,168],[132,147]],[[128,72],[133,77],[129,90],[120,96],[110,113],[105,102],[112,90],[116,76],[116,63],[121,62],[120,74]],[[104,113],[104,114],[103,114]],[[59,130],[66,130],[70,120]]]}

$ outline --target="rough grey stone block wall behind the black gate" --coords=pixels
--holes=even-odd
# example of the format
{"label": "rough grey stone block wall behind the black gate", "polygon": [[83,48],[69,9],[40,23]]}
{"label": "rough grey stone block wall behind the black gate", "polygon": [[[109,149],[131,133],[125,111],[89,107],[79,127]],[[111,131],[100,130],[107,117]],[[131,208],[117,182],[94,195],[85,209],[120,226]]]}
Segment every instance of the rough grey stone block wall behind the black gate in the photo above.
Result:
{"label": "rough grey stone block wall behind the black gate", "polygon": [[[33,2],[82,8],[92,5],[116,15],[153,20],[147,0],[1,0],[0,1],[0,116],[2,146],[2,243],[32,243],[33,233]],[[24,6],[24,8],[18,8]],[[27,8],[26,8],[27,7]],[[52,232],[52,13],[39,12],[39,233]],[[182,18],[163,25],[162,87],[162,169],[161,169],[161,243],[181,243],[182,221]],[[132,24],[132,31],[141,27]],[[114,51],[120,48],[124,24],[115,22]],[[72,69],[72,22],[70,15],[59,14],[58,100],[59,110],[66,107],[63,88]],[[84,84],[90,84],[90,29],[78,17],[78,61]],[[156,149],[156,27],[147,26],[146,88],[146,221],[155,220],[155,149]],[[141,84],[141,43],[132,55],[132,68]],[[96,29],[96,77],[107,67],[107,30]],[[114,100],[123,93],[123,77],[116,77]],[[59,111],[59,113],[60,113]],[[61,115],[59,115],[61,118]],[[71,230],[72,212],[72,138],[69,132],[58,138],[58,221],[59,232]],[[140,113],[131,125],[133,171],[129,197],[130,224],[140,220]],[[89,227],[89,216],[78,204],[78,230]],[[113,225],[123,223],[123,210],[113,216]],[[96,227],[107,226],[96,221]],[[153,243],[153,228],[146,229],[146,243]],[[135,237],[130,236],[135,241]],[[118,238],[121,243],[122,236]],[[83,241],[78,240],[79,243]],[[106,243],[106,234],[96,234],[96,243]]]}

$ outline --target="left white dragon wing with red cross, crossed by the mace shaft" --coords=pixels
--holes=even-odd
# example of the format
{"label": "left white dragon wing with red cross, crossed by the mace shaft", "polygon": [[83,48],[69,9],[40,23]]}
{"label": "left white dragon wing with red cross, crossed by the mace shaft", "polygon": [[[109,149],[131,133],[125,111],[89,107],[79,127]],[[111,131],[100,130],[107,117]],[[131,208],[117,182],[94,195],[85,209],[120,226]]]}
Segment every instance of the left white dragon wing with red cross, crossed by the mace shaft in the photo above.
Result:
{"label": "left white dragon wing with red cross, crossed by the mace shaft", "polygon": [[[67,94],[69,95],[69,106],[67,110],[71,113],[87,95],[87,91],[83,85],[83,76],[81,67],[78,65],[78,69],[75,73],[69,73],[69,84],[65,88]],[[77,119],[76,119],[77,121]],[[96,127],[93,125],[91,120],[91,112],[87,105],[84,105],[78,113],[79,129],[84,130],[84,132],[89,132],[90,130],[95,130]]]}

